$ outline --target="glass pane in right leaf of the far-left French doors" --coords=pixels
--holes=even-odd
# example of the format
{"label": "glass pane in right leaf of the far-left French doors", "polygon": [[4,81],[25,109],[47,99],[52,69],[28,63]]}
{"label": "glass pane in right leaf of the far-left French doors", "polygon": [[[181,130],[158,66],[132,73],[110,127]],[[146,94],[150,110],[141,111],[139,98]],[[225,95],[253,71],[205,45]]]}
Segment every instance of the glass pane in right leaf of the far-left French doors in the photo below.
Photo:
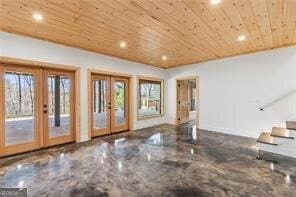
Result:
{"label": "glass pane in right leaf of the far-left French doors", "polygon": [[70,134],[70,89],[68,76],[48,76],[49,137]]}

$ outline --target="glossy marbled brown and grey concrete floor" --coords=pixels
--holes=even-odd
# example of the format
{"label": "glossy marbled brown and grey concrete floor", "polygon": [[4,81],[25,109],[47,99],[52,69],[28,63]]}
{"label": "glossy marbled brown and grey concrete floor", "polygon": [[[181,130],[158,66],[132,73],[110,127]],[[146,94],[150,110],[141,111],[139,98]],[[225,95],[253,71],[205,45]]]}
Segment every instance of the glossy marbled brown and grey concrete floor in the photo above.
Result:
{"label": "glossy marbled brown and grey concrete floor", "polygon": [[295,196],[296,161],[255,140],[159,125],[0,159],[0,187],[29,196]]}

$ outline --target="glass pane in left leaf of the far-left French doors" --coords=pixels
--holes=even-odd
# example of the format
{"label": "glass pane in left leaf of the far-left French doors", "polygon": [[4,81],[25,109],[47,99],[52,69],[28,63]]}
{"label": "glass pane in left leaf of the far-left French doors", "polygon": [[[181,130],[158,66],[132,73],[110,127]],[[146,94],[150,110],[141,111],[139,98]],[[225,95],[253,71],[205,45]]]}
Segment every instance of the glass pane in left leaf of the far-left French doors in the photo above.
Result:
{"label": "glass pane in left leaf of the far-left French doors", "polygon": [[34,76],[5,73],[5,145],[34,141]]}

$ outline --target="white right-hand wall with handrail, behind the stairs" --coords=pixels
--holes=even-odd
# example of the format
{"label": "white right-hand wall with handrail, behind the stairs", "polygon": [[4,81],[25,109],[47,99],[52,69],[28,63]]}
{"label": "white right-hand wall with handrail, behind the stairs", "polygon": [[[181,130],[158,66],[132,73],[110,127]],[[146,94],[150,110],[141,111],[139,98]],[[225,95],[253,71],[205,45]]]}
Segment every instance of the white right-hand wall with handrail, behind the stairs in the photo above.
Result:
{"label": "white right-hand wall with handrail, behind the stairs", "polygon": [[169,69],[168,122],[176,118],[176,78],[199,76],[201,129],[258,137],[296,120],[296,46]]}

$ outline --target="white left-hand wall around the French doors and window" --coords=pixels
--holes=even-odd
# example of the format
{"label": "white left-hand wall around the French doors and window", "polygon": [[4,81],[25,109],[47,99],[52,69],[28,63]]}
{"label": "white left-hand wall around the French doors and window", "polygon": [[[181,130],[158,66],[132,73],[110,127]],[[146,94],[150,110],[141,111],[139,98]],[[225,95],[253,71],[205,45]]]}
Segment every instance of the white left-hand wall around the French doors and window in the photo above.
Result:
{"label": "white left-hand wall around the French doors and window", "polygon": [[[124,50],[124,49],[123,49]],[[134,129],[166,123],[166,117],[137,120],[137,75],[165,79],[165,70],[156,67],[100,55],[89,51],[58,45],[28,37],[0,32],[0,56],[79,66],[81,140],[88,139],[87,70],[98,69],[133,75]]]}

